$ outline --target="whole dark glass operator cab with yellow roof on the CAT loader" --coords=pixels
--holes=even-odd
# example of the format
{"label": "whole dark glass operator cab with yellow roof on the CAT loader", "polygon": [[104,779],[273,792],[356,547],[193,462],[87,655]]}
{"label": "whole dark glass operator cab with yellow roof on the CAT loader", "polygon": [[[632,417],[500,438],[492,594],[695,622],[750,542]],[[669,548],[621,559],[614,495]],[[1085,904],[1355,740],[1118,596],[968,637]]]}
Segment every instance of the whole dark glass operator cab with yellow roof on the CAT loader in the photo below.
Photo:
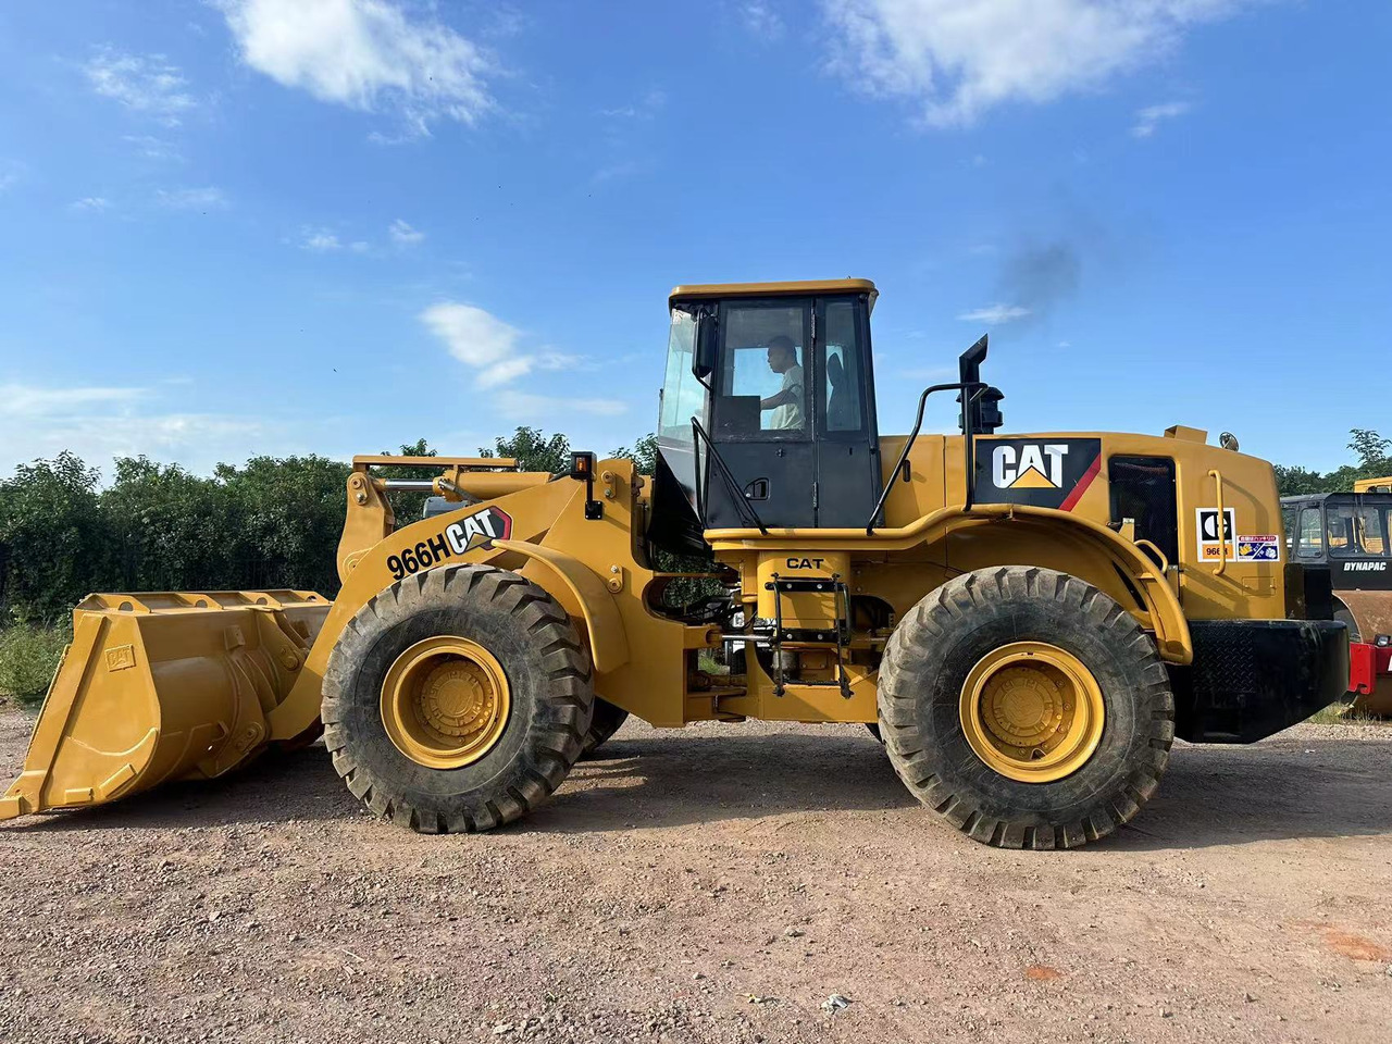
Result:
{"label": "whole dark glass operator cab with yellow roof on the CAT loader", "polygon": [[864,526],[880,494],[874,299],[869,280],[672,291],[656,543],[704,546],[703,529]]}

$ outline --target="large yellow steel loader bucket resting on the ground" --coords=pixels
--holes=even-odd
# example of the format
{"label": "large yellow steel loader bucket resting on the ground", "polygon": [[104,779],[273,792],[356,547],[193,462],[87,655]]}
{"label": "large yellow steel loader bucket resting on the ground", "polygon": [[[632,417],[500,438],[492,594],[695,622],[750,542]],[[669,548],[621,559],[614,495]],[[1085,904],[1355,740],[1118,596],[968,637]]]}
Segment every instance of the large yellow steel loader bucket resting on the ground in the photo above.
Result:
{"label": "large yellow steel loader bucket resting on the ground", "polygon": [[298,590],[88,596],[0,820],[213,778],[255,757],[329,608]]}

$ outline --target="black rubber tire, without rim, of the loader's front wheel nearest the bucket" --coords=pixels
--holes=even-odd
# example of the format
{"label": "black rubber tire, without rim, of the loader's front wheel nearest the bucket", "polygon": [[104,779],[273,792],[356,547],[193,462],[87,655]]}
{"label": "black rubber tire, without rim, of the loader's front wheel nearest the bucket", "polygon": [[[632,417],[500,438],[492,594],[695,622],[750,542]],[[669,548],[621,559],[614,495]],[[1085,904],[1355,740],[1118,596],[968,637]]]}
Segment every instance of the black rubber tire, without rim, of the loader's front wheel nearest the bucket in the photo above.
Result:
{"label": "black rubber tire, without rim, of the loader's front wheel nearest the bucket", "polygon": [[[507,690],[496,739],[447,768],[405,753],[383,722],[388,672],[440,636],[486,650]],[[379,817],[422,834],[491,830],[561,785],[593,703],[589,654],[550,594],[505,569],[438,567],[387,587],[338,636],[324,672],[324,745],[348,789]]]}

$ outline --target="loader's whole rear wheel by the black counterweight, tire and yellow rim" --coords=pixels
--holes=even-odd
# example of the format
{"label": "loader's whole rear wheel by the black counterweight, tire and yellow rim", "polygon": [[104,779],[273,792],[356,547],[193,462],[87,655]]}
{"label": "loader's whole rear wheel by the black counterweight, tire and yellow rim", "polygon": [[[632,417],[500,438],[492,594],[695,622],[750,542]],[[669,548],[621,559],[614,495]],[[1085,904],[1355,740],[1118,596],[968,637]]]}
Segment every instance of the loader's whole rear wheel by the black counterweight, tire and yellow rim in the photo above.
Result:
{"label": "loader's whole rear wheel by the black counterweight, tire and yellow rim", "polygon": [[1111,834],[1154,795],[1175,735],[1151,638],[1104,592],[1033,567],[923,599],[885,646],[878,703],[909,791],[998,848]]}

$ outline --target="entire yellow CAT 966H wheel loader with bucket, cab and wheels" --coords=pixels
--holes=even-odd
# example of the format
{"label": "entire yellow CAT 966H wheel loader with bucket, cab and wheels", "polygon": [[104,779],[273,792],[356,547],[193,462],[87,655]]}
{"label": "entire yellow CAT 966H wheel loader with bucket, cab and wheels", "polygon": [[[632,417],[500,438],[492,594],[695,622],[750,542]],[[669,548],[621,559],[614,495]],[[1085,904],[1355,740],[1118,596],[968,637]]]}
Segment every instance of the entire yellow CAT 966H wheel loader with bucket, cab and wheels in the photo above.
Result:
{"label": "entire yellow CAT 966H wheel loader with bucket, cab and wheels", "polygon": [[[635,714],[864,722],[973,838],[1070,848],[1136,814],[1176,735],[1257,741],[1343,692],[1345,628],[1304,618],[1268,464],[1187,427],[998,434],[984,338],[908,436],[881,434],[874,299],[864,280],[672,291],[653,475],[356,458],[333,604],[89,597],[0,817],[322,728],[379,816],[486,830]],[[922,430],[931,395],[960,402],[959,433]],[[398,525],[388,462],[433,468],[451,509]],[[718,594],[670,604],[689,575],[658,550],[711,555]]]}

